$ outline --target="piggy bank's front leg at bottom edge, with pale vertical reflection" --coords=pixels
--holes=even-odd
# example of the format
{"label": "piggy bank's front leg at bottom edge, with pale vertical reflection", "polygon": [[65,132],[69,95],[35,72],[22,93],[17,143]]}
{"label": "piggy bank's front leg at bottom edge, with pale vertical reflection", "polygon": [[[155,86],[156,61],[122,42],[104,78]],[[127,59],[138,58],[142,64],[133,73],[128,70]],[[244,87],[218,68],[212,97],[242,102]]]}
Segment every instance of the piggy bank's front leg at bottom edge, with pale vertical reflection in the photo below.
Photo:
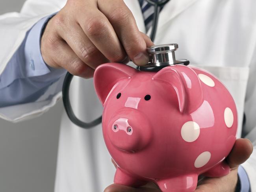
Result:
{"label": "piggy bank's front leg at bottom edge, with pale vertical reflection", "polygon": [[157,184],[162,192],[193,192],[197,188],[197,179],[197,174],[188,174],[158,180]]}

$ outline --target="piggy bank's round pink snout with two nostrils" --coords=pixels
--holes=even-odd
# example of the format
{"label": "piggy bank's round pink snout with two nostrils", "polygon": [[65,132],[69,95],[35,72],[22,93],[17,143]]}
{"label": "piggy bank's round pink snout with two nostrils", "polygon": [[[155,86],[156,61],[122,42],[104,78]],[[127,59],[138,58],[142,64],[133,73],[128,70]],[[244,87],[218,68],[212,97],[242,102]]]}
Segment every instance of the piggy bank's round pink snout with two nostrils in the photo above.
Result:
{"label": "piggy bank's round pink snout with two nostrils", "polygon": [[120,150],[130,152],[145,148],[152,136],[147,118],[134,113],[124,116],[115,116],[109,124],[108,136],[111,143]]}

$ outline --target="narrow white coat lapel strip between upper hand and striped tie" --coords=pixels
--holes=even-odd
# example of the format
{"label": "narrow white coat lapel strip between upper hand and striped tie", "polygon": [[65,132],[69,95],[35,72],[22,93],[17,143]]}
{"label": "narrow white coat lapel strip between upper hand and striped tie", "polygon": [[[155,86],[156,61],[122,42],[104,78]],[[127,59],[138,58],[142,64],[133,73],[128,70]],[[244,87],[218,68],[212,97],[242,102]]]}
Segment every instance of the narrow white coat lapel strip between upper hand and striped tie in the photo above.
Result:
{"label": "narrow white coat lapel strip between upper hand and striped tie", "polygon": [[129,9],[132,11],[132,14],[134,15],[134,18],[136,20],[137,26],[139,28],[139,31],[145,33],[146,28],[144,24],[143,15],[141,12],[141,7],[139,5],[138,0],[124,0],[126,6],[129,7]]}

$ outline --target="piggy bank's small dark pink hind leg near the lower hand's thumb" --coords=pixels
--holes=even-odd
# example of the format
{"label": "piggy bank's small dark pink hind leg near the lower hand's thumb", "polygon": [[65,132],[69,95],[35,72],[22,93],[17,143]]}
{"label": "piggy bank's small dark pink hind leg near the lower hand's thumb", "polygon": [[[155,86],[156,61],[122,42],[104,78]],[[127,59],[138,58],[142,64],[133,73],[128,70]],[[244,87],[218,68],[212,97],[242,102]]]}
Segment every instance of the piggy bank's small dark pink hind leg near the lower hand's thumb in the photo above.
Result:
{"label": "piggy bank's small dark pink hind leg near the lower hand's thumb", "polygon": [[230,167],[225,161],[222,161],[221,163],[217,164],[207,172],[203,173],[206,177],[222,177],[224,175],[229,174]]}

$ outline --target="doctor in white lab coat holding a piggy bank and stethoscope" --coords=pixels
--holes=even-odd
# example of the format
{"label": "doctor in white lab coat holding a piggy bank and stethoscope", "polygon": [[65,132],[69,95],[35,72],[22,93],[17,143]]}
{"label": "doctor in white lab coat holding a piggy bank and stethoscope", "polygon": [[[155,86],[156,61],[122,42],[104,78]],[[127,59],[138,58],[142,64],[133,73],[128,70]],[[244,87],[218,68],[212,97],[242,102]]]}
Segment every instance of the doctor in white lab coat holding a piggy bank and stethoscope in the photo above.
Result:
{"label": "doctor in white lab coat holding a piggy bank and stethoscope", "polygon": [[[228,156],[230,174],[202,179],[198,192],[256,192],[253,7],[254,0],[171,0],[160,13],[154,43],[177,42],[177,57],[205,68],[226,85],[238,109],[237,137],[254,144],[238,139]],[[20,13],[0,16],[0,117],[18,122],[45,113],[61,98],[66,70],[91,78],[96,66],[108,61],[147,63],[145,50],[152,42],[144,33],[150,34],[151,15],[152,7],[140,0],[28,0]],[[78,118],[98,117],[102,107],[92,79],[74,78],[71,87]],[[64,113],[55,191],[100,192],[113,182],[114,173],[101,125],[85,130]],[[111,185],[106,191],[159,190],[148,184],[139,189]]]}

